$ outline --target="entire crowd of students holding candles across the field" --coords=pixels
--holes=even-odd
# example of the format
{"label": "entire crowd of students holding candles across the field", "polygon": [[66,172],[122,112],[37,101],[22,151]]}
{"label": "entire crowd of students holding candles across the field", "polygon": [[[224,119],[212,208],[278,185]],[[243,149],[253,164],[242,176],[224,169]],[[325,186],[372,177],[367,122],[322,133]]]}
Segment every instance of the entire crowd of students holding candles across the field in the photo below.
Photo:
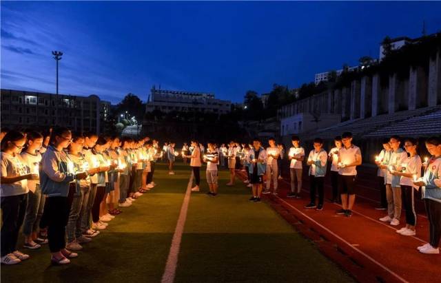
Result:
{"label": "entire crowd of students holding candles across the field", "polygon": [[[47,134],[35,131],[1,132],[1,263],[17,264],[29,255],[17,250],[19,232],[23,247],[39,249],[48,244],[53,264],[68,264],[109,222],[130,207],[132,202],[155,187],[154,169],[159,158],[166,159],[169,174],[174,175],[178,156],[191,167],[191,191],[200,191],[201,167],[206,166],[207,195],[218,194],[218,166],[229,169],[227,186],[234,185],[236,171],[246,173],[244,182],[252,188],[250,202],[260,202],[261,195],[278,195],[278,181],[289,163],[290,191],[287,198],[300,198],[302,171],[309,167],[309,201],[306,209],[321,211],[325,205],[325,176],[330,167],[332,200],[341,203],[337,214],[351,217],[356,200],[356,176],[362,163],[360,148],[352,143],[352,134],[334,139],[335,147],[327,152],[323,140],[315,138],[305,158],[300,138],[293,136],[292,147],[269,138],[265,149],[258,138],[251,143],[230,142],[220,146],[198,140],[185,143],[181,152],[175,143],[118,136],[72,133],[57,127]],[[393,226],[400,224],[402,206],[406,225],[401,235],[415,235],[416,191],[421,190],[430,224],[430,239],[418,247],[421,253],[439,253],[441,238],[441,140],[428,138],[425,147],[431,157],[422,162],[418,143],[391,136],[384,140],[376,156],[381,206],[387,216],[380,218]],[[285,165],[286,166],[286,165]],[[423,170],[423,173],[422,173]],[[272,186],[271,186],[272,185]],[[318,200],[316,196],[318,195]]]}

